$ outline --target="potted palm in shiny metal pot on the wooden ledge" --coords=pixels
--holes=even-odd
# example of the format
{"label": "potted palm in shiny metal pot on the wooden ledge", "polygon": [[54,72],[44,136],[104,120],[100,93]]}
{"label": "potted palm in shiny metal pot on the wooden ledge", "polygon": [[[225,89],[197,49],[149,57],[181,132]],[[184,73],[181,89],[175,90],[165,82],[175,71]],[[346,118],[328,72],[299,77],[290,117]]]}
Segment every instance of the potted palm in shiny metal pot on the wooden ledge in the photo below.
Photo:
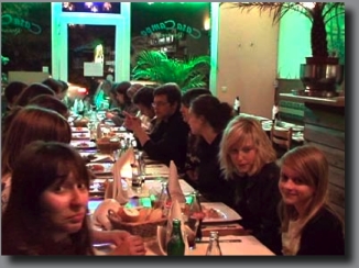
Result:
{"label": "potted palm in shiny metal pot on the wooden ledge", "polygon": [[300,12],[312,22],[311,46],[312,56],[301,65],[301,80],[309,94],[329,97],[335,94],[335,86],[342,81],[344,66],[338,57],[330,55],[327,43],[327,23],[345,14],[344,2],[238,2],[232,8],[250,11],[258,8],[260,12],[269,11],[273,23],[290,11]]}

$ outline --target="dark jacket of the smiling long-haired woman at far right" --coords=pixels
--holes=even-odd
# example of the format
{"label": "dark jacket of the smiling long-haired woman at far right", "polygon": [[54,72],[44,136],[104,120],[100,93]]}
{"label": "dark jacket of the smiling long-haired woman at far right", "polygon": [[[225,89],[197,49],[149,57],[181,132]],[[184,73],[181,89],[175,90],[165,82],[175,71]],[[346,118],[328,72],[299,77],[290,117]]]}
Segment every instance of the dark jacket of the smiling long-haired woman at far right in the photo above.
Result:
{"label": "dark jacket of the smiling long-haired woman at far right", "polygon": [[345,255],[341,222],[323,208],[305,225],[297,255]]}

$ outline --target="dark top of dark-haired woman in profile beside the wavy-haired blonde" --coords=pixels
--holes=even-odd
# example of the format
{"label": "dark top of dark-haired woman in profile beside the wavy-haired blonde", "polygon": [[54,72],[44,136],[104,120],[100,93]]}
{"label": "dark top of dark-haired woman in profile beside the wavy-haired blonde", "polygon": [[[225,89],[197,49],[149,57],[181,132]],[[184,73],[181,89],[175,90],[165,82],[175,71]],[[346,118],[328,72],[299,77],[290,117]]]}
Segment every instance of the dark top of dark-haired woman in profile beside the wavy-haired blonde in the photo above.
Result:
{"label": "dark top of dark-haired woman in profile beside the wavy-haired blonde", "polygon": [[211,144],[204,138],[198,144],[197,189],[202,196],[211,202],[228,202],[228,183],[221,176],[218,160],[219,143],[222,134],[218,134]]}

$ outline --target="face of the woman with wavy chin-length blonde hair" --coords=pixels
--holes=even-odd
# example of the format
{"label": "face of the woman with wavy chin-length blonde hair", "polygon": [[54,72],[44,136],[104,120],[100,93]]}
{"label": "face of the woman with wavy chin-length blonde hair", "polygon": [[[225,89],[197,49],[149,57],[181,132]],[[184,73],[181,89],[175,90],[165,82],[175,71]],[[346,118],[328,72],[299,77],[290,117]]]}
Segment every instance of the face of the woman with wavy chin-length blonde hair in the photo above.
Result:
{"label": "face of the woman with wavy chin-length blonde hair", "polygon": [[242,145],[235,144],[229,148],[229,155],[238,172],[248,174],[254,165],[257,148],[252,141],[247,141]]}

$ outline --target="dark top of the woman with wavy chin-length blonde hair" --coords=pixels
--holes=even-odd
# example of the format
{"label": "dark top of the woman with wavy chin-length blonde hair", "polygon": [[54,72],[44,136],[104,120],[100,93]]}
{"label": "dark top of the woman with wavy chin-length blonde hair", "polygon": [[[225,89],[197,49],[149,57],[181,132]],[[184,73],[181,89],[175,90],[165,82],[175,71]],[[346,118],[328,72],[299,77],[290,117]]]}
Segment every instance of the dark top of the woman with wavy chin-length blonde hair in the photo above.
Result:
{"label": "dark top of the woman with wavy chin-length blonde hair", "polygon": [[270,163],[257,175],[236,176],[229,181],[232,189],[229,205],[242,217],[240,224],[252,230],[252,235],[276,255],[282,254],[279,178],[280,168]]}

